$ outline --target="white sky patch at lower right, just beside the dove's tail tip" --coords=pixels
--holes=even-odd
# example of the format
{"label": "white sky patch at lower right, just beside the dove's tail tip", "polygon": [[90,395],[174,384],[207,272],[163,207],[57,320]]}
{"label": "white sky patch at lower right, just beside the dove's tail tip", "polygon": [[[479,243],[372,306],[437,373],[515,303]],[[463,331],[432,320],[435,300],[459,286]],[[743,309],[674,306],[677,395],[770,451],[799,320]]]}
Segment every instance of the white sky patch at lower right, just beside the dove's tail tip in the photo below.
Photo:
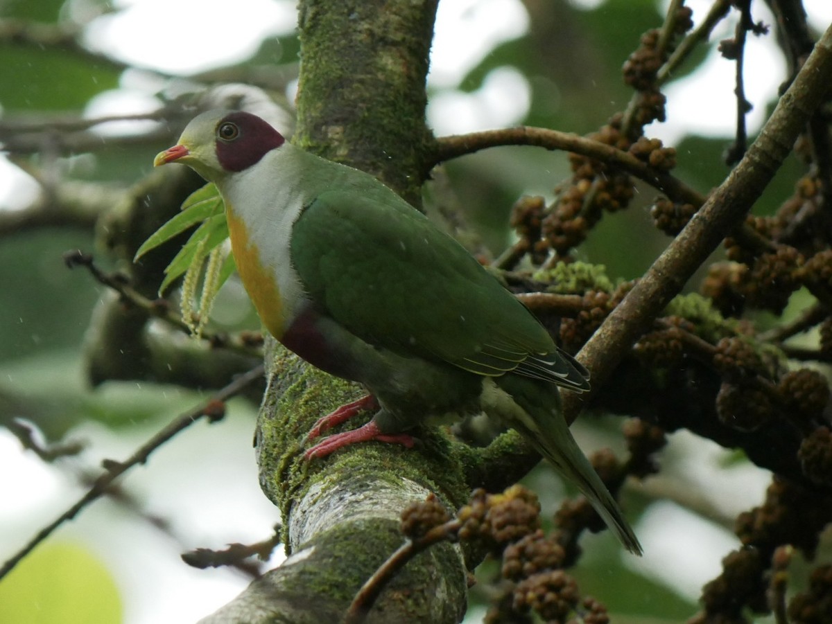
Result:
{"label": "white sky patch at lower right, just beside the dove's tail tip", "polygon": [[646,510],[636,533],[644,556],[625,557],[625,565],[693,602],[721,572],[722,558],[740,545],[726,529],[666,501]]}

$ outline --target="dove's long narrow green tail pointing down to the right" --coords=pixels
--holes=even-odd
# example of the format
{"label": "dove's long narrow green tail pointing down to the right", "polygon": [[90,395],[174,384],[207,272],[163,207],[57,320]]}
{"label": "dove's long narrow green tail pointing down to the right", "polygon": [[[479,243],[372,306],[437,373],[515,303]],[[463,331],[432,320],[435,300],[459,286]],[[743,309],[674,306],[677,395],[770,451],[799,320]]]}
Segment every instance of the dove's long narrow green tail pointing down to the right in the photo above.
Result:
{"label": "dove's long narrow green tail pointing down to the right", "polygon": [[[607,486],[572,437],[554,386],[519,376],[498,377],[495,387],[506,396],[496,410],[505,424],[518,430],[563,477],[572,481],[631,553],[641,555],[641,544]],[[550,390],[551,389],[551,390]],[[508,398],[511,404],[504,401]]]}

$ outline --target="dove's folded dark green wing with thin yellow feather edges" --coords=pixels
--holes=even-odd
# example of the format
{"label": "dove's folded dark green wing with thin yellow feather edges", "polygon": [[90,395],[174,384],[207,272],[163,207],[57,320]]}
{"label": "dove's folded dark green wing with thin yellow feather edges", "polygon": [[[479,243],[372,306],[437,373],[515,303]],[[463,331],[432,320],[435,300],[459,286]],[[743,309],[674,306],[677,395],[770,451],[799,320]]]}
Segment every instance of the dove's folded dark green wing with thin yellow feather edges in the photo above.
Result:
{"label": "dove's folded dark green wing with thin yellow feather edges", "polygon": [[478,375],[577,373],[562,385],[586,385],[526,307],[389,189],[320,194],[295,222],[291,258],[320,312],[370,344]]}

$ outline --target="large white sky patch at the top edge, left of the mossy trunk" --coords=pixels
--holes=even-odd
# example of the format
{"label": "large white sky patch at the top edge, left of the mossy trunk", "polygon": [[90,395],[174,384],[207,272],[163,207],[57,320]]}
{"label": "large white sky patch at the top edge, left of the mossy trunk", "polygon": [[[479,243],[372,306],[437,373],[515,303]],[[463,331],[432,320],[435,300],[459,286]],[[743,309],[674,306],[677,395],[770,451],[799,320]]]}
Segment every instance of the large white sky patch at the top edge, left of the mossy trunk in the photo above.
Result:
{"label": "large white sky patch at the top edge, left of the mossy trunk", "polygon": [[171,74],[192,74],[245,61],[265,37],[291,32],[287,0],[121,0],[120,11],[87,28],[86,42],[121,61]]}

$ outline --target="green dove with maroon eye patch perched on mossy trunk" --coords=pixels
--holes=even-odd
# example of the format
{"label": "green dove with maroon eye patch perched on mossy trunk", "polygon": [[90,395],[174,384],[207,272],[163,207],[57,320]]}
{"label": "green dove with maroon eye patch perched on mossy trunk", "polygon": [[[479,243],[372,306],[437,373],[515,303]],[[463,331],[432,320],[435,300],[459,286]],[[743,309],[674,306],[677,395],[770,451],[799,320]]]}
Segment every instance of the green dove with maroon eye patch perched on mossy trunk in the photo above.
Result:
{"label": "green dove with maroon eye patch perched on mossy trunk", "polygon": [[155,165],[182,163],[216,184],[240,278],[269,332],[369,396],[324,416],[324,457],[368,440],[414,444],[428,417],[493,415],[577,485],[632,553],[641,546],[578,448],[561,386],[586,369],[465,249],[372,175],[312,155],[241,111],[197,116]]}

